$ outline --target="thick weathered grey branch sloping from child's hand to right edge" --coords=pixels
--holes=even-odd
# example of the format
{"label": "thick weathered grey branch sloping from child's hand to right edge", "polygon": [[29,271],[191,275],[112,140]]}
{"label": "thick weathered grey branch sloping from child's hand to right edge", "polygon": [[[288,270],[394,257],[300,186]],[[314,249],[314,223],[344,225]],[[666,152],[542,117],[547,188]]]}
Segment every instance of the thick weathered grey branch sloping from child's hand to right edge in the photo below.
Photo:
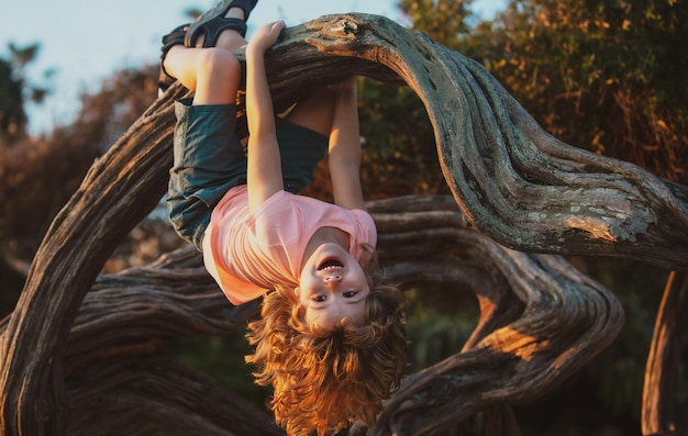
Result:
{"label": "thick weathered grey branch sloping from child's hand to right edge", "polygon": [[521,250],[688,267],[686,187],[557,141],[479,64],[421,33],[370,15],[306,26],[322,52],[384,64],[419,94],[450,188],[481,232]]}

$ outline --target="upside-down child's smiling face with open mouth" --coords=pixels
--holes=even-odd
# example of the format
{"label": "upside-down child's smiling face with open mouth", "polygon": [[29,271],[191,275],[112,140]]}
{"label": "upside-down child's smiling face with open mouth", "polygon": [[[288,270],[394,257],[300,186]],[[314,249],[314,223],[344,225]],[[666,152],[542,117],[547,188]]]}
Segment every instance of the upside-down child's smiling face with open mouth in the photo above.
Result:
{"label": "upside-down child's smiling face with open mouth", "polygon": [[365,322],[370,287],[356,258],[337,244],[323,244],[306,261],[297,290],[306,308],[306,322],[321,328]]}

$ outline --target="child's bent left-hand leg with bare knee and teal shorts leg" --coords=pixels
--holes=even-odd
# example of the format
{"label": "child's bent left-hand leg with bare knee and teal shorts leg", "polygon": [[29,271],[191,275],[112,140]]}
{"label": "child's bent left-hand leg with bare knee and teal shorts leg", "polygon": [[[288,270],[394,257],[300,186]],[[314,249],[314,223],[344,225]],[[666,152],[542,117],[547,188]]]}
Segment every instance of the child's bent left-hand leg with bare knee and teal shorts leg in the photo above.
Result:
{"label": "child's bent left-hand leg with bare knee and teal shorts leg", "polygon": [[[229,34],[220,37],[225,42],[243,41],[233,30],[223,34]],[[235,135],[242,69],[231,48],[175,45],[164,59],[168,74],[195,91],[192,100],[175,103],[167,204],[177,233],[199,249],[217,202],[230,188],[246,181],[246,156]]]}

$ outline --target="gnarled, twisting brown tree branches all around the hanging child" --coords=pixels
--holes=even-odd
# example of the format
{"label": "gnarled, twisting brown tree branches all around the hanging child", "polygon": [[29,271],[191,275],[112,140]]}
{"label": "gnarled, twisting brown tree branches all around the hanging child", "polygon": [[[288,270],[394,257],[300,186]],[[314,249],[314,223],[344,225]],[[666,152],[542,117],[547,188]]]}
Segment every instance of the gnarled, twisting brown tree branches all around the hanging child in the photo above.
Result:
{"label": "gnarled, twisting brown tree branches all around the hanging child", "polygon": [[[480,302],[464,349],[409,374],[377,424],[352,433],[518,434],[508,404],[556,387],[623,322],[615,298],[556,255],[688,267],[686,187],[558,142],[479,65],[422,34],[329,15],[289,29],[267,65],[277,108],[352,74],[421,97],[454,198],[371,202],[380,258],[402,283],[455,283]],[[165,191],[182,93],[174,86],[93,164],[47,232],[1,326],[3,435],[279,434],[265,412],[155,354],[257,311],[226,303],[197,253],[98,277]]]}

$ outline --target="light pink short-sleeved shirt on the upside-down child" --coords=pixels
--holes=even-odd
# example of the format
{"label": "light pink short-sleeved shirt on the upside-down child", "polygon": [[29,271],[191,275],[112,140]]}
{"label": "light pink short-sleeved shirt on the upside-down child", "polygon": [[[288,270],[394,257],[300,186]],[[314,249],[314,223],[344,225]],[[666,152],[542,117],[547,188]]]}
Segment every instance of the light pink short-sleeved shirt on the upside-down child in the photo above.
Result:
{"label": "light pink short-sleeved shirt on the upside-down child", "polygon": [[279,191],[248,213],[246,186],[232,188],[212,212],[203,237],[203,261],[232,304],[262,297],[279,283],[296,288],[306,245],[317,230],[349,235],[349,253],[375,246],[373,217],[309,197]]}

